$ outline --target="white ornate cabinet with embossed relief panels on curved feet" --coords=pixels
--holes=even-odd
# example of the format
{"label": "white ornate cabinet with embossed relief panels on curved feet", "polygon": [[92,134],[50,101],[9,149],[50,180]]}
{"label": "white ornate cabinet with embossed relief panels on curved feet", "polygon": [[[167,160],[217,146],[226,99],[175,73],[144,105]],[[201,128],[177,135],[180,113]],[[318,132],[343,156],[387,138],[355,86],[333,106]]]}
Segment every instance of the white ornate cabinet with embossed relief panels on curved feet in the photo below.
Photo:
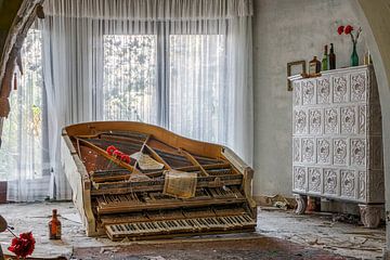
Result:
{"label": "white ornate cabinet with embossed relief panels on curved feet", "polygon": [[381,113],[372,66],[292,81],[292,192],[358,203],[364,225],[379,224],[385,202]]}

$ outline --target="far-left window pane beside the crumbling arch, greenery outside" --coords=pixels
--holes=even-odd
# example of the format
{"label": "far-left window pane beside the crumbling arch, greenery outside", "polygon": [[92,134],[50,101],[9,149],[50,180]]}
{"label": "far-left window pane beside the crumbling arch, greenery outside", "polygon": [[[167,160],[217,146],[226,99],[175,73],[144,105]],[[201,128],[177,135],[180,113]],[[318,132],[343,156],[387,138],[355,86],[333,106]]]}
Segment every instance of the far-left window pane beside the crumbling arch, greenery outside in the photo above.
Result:
{"label": "far-left window pane beside the crumbling arch, greenery outside", "polygon": [[[24,75],[11,92],[11,114],[4,121],[0,148],[0,180],[42,177],[41,32],[30,29],[22,48]],[[18,72],[16,68],[15,72]]]}

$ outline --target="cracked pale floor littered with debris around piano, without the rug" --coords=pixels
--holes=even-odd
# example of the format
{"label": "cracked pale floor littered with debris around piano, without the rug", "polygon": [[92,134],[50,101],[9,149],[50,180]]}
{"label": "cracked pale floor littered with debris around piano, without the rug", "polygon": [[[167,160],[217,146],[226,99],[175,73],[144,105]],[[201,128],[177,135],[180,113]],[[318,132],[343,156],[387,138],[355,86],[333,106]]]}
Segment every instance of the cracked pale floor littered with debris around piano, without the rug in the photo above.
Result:
{"label": "cracked pale floor littered with debris around piano, without the rug", "polygon": [[[49,240],[47,234],[48,222],[50,220],[51,210],[53,208],[56,208],[58,210],[63,224],[63,239],[57,242]],[[153,247],[157,248],[157,244],[174,244],[178,242],[177,239],[169,239],[158,240],[157,243],[129,240],[114,243],[107,238],[87,237],[83,232],[83,226],[79,222],[77,210],[72,203],[0,205],[0,213],[8,220],[10,225],[13,225],[15,227],[15,233],[32,231],[37,239],[36,251],[34,255],[35,257],[70,257],[74,249],[75,251],[81,252],[82,255],[88,252],[88,250],[91,250],[91,248],[96,248],[94,251],[101,252],[102,250],[105,250],[101,247],[108,248],[107,251],[113,251],[112,249],[117,246],[128,245],[132,245],[133,248],[135,246],[141,247],[142,245],[153,245]],[[3,251],[6,251],[6,247],[9,246],[11,238],[12,235],[9,232],[0,234],[0,243]],[[283,240],[274,238],[281,238]],[[275,243],[296,243],[298,245],[294,245],[294,248],[297,247],[298,251],[307,248],[312,248],[312,252],[318,251],[318,249],[324,249],[328,252],[339,253],[346,257],[355,257],[358,259],[375,259],[381,257],[381,250],[385,246],[385,227],[367,230],[356,224],[335,222],[332,220],[332,216],[325,213],[296,216],[291,211],[263,209],[259,210],[258,226],[256,233],[202,237],[197,236],[181,240],[183,240],[184,243],[197,242],[200,244],[208,242],[207,244],[209,245],[210,243],[223,243],[223,240],[229,243],[232,243],[232,240],[240,240],[239,243],[245,243],[245,240],[251,239],[274,239]],[[196,250],[196,248],[194,250]],[[225,251],[225,253],[227,253],[227,251]],[[301,252],[297,253],[298,256],[302,255]],[[211,257],[212,253],[209,253],[209,256]],[[226,258],[220,259],[256,259],[248,256],[245,257],[245,255],[242,255],[240,258],[238,256],[237,258],[227,258],[227,256],[225,257]],[[166,258],[159,258],[159,260],[164,259]],[[205,259],[205,257],[202,257],[202,259]],[[308,258],[303,257],[299,259]]]}

